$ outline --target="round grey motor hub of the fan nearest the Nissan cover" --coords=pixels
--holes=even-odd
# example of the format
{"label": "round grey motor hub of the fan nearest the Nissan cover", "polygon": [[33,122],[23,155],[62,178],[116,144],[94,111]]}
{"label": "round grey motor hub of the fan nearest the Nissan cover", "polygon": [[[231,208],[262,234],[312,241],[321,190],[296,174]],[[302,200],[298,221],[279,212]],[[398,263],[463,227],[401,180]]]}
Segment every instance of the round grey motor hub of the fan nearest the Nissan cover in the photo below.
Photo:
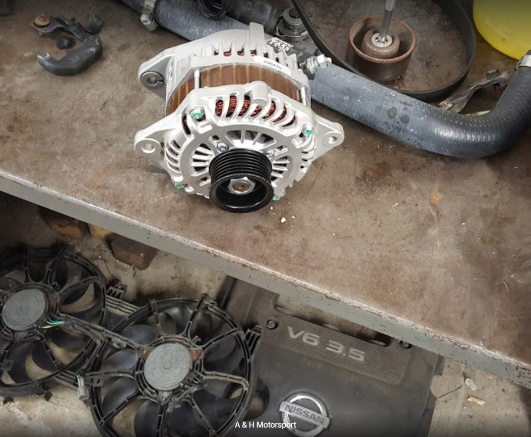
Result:
{"label": "round grey motor hub of the fan nearest the Nissan cover", "polygon": [[178,343],[157,346],[145,360],[144,377],[156,390],[170,391],[186,378],[192,366],[188,348]]}

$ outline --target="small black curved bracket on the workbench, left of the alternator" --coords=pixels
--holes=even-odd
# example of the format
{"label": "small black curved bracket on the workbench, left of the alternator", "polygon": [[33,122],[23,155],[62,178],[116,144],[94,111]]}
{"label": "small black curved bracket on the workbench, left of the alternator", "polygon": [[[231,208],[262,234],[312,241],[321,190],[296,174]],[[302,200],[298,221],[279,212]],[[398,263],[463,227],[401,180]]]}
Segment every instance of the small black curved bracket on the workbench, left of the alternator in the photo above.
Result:
{"label": "small black curved bracket on the workbench, left of the alternator", "polygon": [[82,73],[101,57],[101,40],[96,35],[101,28],[101,21],[95,15],[91,16],[87,27],[83,27],[73,19],[68,20],[64,16],[50,17],[49,24],[45,26],[40,26],[35,22],[32,23],[32,26],[39,33],[44,34],[63,29],[82,41],[80,46],[68,50],[61,59],[56,59],[49,53],[37,55],[39,64],[52,74],[73,76]]}

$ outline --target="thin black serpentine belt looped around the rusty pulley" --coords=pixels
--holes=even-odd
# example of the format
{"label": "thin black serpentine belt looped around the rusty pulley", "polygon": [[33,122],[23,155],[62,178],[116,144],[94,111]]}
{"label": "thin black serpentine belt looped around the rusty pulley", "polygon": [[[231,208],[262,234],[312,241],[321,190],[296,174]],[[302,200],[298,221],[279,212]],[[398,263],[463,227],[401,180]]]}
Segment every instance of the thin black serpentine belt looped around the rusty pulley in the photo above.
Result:
{"label": "thin black serpentine belt looped around the rusty pulley", "polygon": [[[457,79],[453,80],[451,83],[443,85],[440,88],[422,91],[398,89],[396,90],[407,96],[428,102],[443,99],[444,97],[448,96],[450,92],[459,87],[461,83],[463,83],[466,78],[466,75],[468,74],[468,71],[470,70],[470,66],[472,65],[474,55],[476,54],[477,44],[476,30],[474,28],[474,24],[472,23],[472,20],[470,20],[470,17],[463,9],[463,7],[461,7],[461,5],[459,5],[455,0],[432,0],[432,2],[438,5],[456,25],[457,30],[459,31],[459,34],[465,44],[466,67],[463,71],[459,73]],[[337,54],[333,53],[332,49],[327,45],[326,41],[324,41],[319,30],[313,27],[309,15],[304,11],[302,3],[303,2],[301,0],[293,0],[293,5],[295,6],[295,9],[297,10],[309,35],[312,37],[313,41],[315,42],[315,45],[319,48],[319,50],[321,50],[321,52],[325,55],[329,56],[334,64],[345,68],[345,70],[350,70],[355,74],[364,76],[364,74],[357,71],[352,65],[347,64]]]}

